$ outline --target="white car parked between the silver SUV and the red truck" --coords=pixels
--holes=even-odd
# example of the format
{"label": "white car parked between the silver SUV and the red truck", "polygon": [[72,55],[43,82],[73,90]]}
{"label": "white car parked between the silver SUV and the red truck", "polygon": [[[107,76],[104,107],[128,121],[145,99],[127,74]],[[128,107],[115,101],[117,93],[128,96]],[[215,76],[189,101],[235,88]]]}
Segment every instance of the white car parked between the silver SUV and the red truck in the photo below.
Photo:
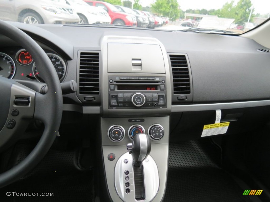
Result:
{"label": "white car parked between the silver SUV and the red truck", "polygon": [[80,17],[80,24],[105,23],[110,24],[109,14],[102,8],[90,6],[83,0],[65,0]]}

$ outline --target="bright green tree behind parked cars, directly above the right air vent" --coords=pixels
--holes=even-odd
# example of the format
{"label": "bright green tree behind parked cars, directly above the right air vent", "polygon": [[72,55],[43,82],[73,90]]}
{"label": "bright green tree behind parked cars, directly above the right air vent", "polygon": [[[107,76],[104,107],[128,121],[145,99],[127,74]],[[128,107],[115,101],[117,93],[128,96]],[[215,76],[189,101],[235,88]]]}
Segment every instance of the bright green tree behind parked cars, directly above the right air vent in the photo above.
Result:
{"label": "bright green tree behind parked cars, directly above the right air vent", "polygon": [[154,4],[152,4],[152,11],[162,15],[169,17],[171,20],[179,19],[179,4],[177,0],[157,0]]}

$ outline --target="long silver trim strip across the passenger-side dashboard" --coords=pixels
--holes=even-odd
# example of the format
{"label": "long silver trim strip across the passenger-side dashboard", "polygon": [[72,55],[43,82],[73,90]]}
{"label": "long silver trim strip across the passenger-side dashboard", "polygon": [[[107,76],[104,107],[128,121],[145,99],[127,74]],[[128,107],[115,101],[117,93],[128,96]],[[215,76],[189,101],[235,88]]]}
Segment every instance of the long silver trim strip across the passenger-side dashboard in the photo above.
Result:
{"label": "long silver trim strip across the passenger-side dashboard", "polygon": [[260,107],[270,105],[270,100],[255,100],[245,102],[211,103],[197,105],[172,105],[171,112],[194,112],[216,109],[237,109],[245,107]]}

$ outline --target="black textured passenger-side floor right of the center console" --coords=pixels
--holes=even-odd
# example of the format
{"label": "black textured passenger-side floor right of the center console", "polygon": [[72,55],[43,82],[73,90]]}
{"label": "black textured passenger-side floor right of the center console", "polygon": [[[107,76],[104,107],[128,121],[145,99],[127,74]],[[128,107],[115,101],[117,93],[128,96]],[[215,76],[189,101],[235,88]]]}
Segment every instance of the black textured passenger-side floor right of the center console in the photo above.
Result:
{"label": "black textured passenger-side floor right of the center console", "polygon": [[249,202],[233,176],[220,168],[221,151],[209,139],[171,144],[166,202]]}

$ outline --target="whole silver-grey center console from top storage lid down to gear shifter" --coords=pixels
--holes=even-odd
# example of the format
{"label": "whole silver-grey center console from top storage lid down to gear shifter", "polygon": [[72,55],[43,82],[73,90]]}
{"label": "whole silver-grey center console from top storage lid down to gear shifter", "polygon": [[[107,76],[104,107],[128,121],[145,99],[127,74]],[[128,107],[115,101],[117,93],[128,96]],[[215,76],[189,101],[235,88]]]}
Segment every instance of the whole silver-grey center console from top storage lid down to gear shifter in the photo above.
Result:
{"label": "whole silver-grey center console from top storage lid down to gear shifter", "polygon": [[160,202],[171,112],[166,50],[150,37],[104,36],[101,47],[101,141],[109,195],[112,201]]}

